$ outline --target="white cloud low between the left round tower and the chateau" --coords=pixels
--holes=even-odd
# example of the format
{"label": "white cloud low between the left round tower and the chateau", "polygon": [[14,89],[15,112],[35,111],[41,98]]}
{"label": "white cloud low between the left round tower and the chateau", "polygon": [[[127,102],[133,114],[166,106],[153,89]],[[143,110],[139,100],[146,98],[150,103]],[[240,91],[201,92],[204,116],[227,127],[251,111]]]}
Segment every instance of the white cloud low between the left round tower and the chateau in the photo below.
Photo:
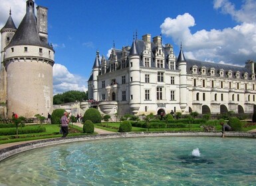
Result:
{"label": "white cloud low between the left round tower and the chateau", "polygon": [[69,90],[87,91],[86,79],[68,72],[66,66],[57,64],[53,66],[53,94],[63,93]]}

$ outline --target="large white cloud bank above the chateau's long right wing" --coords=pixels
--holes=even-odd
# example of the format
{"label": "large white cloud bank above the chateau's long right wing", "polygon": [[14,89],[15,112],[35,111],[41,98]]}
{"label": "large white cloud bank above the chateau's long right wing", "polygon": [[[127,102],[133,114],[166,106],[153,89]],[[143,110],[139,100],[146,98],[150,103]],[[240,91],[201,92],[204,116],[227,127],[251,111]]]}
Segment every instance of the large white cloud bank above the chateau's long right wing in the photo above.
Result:
{"label": "large white cloud bank above the chateau's long right wing", "polygon": [[256,14],[252,15],[256,12],[256,3],[252,0],[243,2],[237,11],[228,0],[214,1],[215,9],[242,21],[233,28],[202,29],[192,33],[190,27],[195,26],[195,20],[185,13],[176,19],[166,18],[160,26],[162,34],[171,37],[176,45],[182,43],[184,53],[188,54],[186,58],[244,65],[248,59],[256,60],[256,19],[253,18]]}

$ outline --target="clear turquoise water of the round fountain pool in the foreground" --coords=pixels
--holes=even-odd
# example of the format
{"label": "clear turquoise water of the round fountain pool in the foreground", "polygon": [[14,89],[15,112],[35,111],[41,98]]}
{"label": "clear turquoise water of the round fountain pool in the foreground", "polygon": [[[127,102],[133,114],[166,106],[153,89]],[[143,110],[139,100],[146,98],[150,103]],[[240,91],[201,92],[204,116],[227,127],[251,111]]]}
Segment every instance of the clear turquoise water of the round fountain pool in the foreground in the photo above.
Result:
{"label": "clear turquoise water of the round fountain pool in the foreground", "polygon": [[255,139],[118,138],[43,147],[1,161],[0,185],[256,185]]}

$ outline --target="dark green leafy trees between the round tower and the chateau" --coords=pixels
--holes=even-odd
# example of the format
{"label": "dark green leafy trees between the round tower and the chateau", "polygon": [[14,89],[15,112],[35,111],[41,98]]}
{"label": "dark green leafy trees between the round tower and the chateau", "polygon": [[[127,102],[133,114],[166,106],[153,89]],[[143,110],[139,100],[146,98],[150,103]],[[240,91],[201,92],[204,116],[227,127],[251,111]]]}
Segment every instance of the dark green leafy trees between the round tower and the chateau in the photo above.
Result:
{"label": "dark green leafy trees between the round tower and the chateau", "polygon": [[88,92],[80,92],[78,90],[70,90],[63,94],[53,96],[53,104],[64,104],[69,102],[81,102],[88,99]]}

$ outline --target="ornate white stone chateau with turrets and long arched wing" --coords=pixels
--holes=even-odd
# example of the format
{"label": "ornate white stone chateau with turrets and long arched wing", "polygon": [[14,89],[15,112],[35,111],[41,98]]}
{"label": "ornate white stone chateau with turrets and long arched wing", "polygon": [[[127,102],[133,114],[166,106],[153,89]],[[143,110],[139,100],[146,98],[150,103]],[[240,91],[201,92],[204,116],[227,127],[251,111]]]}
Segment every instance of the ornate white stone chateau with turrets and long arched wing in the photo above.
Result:
{"label": "ornate white stone chateau with turrets and long arched wing", "polygon": [[250,114],[255,86],[251,60],[245,67],[191,60],[182,47],[176,57],[172,45],[147,34],[132,46],[113,48],[108,59],[96,52],[88,98],[99,101],[104,114]]}

